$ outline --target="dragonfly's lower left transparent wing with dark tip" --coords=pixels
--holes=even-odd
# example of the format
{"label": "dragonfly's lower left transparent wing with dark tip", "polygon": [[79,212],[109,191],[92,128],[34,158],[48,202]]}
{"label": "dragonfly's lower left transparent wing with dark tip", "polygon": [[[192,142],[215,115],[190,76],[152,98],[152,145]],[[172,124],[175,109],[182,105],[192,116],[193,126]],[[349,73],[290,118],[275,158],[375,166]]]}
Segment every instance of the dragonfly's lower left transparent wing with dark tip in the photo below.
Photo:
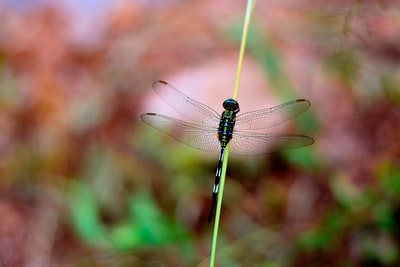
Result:
{"label": "dragonfly's lower left transparent wing with dark tip", "polygon": [[193,148],[214,152],[220,148],[217,128],[174,119],[156,113],[145,113],[140,119],[151,127]]}

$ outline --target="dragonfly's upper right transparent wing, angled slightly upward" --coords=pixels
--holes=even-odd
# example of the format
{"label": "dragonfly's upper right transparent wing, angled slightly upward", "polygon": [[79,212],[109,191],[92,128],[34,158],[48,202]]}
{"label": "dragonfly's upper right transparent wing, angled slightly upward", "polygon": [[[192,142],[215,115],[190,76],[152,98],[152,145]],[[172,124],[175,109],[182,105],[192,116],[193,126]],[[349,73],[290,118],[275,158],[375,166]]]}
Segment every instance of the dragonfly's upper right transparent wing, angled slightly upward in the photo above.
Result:
{"label": "dragonfly's upper right transparent wing, angled slightly upward", "polygon": [[310,101],[296,99],[272,108],[260,109],[239,114],[235,129],[260,130],[277,126],[295,118],[310,107]]}

